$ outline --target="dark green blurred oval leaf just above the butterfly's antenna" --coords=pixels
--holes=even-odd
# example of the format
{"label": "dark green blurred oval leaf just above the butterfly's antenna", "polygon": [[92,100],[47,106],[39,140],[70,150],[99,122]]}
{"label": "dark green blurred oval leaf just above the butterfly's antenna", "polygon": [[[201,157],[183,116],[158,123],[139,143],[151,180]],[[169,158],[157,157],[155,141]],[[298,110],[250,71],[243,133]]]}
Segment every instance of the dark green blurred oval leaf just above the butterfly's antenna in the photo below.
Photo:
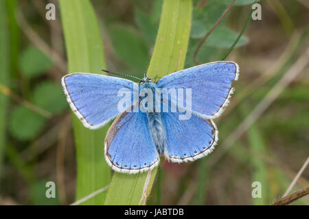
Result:
{"label": "dark green blurred oval leaf just above the butterfly's antenna", "polygon": [[148,49],[134,29],[117,25],[111,38],[117,57],[133,69],[144,71],[148,65]]}

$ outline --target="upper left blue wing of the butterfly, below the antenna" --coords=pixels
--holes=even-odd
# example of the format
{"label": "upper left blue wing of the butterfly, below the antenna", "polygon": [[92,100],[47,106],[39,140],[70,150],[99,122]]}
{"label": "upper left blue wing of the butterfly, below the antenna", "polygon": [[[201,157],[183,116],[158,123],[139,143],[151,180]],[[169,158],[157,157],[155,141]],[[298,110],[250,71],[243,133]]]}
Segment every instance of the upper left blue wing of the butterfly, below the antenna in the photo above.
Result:
{"label": "upper left blue wing of the butterfly, below the antenna", "polygon": [[98,129],[115,118],[119,114],[117,103],[123,98],[117,96],[117,92],[122,88],[133,92],[135,86],[137,84],[126,79],[89,73],[62,77],[62,87],[71,109],[89,129]]}

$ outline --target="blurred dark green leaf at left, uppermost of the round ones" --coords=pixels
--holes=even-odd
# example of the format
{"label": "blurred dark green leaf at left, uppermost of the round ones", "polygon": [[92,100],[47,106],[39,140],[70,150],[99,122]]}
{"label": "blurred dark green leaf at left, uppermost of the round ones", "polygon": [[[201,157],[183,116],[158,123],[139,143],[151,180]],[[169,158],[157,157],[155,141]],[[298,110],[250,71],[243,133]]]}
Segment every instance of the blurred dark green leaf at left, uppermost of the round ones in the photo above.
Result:
{"label": "blurred dark green leaf at left, uppermost of the round ones", "polygon": [[27,47],[21,53],[19,68],[26,77],[41,75],[52,66],[53,62],[35,47]]}

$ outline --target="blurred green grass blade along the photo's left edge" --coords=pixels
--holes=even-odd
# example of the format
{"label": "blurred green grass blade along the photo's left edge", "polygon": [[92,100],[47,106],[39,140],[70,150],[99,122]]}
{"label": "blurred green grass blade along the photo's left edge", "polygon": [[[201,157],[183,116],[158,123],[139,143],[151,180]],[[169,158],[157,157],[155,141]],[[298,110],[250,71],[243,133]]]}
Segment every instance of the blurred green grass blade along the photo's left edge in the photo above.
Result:
{"label": "blurred green grass blade along the photo's left edge", "polygon": [[[0,83],[8,86],[10,75],[8,16],[5,1],[0,1]],[[8,98],[0,92],[0,172],[5,150],[5,118],[7,117]]]}

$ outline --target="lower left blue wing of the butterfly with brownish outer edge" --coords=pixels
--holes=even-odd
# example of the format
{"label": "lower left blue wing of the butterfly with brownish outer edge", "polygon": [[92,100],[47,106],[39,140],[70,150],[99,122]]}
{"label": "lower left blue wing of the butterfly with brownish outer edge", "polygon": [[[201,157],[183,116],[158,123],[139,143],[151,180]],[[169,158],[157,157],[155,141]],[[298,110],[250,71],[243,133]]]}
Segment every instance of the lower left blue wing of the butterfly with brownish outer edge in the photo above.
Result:
{"label": "lower left blue wing of the butterfly with brownish outer edge", "polygon": [[137,173],[159,164],[146,114],[123,112],[115,119],[105,138],[106,162],[117,172]]}

